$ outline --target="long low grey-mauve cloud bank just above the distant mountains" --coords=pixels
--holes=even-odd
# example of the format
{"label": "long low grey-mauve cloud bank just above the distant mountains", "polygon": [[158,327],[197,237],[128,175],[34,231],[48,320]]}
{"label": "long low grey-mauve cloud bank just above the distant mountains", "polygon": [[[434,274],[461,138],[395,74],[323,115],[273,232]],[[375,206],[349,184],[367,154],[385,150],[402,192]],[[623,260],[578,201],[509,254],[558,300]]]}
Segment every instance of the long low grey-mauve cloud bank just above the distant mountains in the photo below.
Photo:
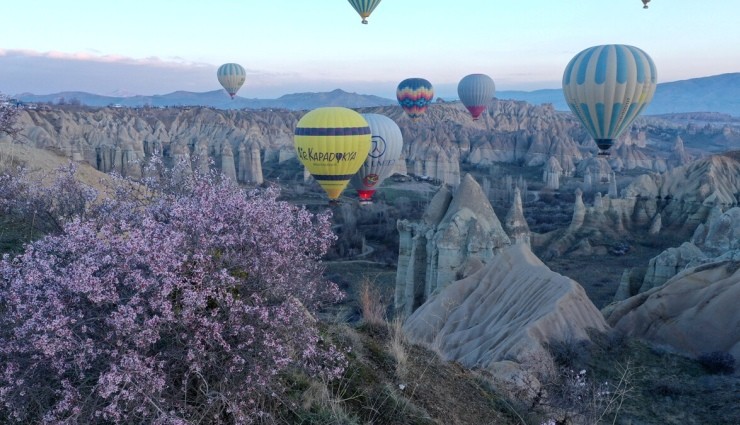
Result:
{"label": "long low grey-mauve cloud bank just above the distant mountains", "polygon": [[[131,58],[102,55],[92,50],[69,53],[0,49],[0,93],[16,95],[84,91],[101,95],[156,95],[179,90],[206,92],[221,89],[216,79],[217,68],[217,65],[187,61],[181,57]],[[247,69],[247,81],[239,95],[277,98],[287,93],[341,88],[385,98],[395,97],[398,82],[380,78],[379,75],[383,73],[364,77],[341,69],[345,72],[316,71],[304,67],[278,71]],[[439,96],[456,96],[455,78],[434,81]],[[494,76],[499,90],[508,89],[519,78],[513,74]],[[524,88],[521,84],[519,86],[517,88]],[[548,84],[546,87],[557,85]],[[531,87],[535,88],[538,87]]]}

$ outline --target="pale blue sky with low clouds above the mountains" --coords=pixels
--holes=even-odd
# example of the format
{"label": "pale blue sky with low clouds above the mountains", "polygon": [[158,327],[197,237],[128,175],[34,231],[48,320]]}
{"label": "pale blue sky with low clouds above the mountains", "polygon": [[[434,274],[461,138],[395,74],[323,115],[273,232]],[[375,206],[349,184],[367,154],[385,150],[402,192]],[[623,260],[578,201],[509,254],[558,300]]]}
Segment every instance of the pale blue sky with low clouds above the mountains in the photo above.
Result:
{"label": "pale blue sky with low clouds above the mountains", "polygon": [[368,25],[346,0],[12,0],[2,7],[0,93],[239,96],[341,88],[394,98],[408,77],[439,96],[485,73],[497,90],[560,88],[583,49],[630,44],[658,82],[740,72],[740,0],[382,0]]}

